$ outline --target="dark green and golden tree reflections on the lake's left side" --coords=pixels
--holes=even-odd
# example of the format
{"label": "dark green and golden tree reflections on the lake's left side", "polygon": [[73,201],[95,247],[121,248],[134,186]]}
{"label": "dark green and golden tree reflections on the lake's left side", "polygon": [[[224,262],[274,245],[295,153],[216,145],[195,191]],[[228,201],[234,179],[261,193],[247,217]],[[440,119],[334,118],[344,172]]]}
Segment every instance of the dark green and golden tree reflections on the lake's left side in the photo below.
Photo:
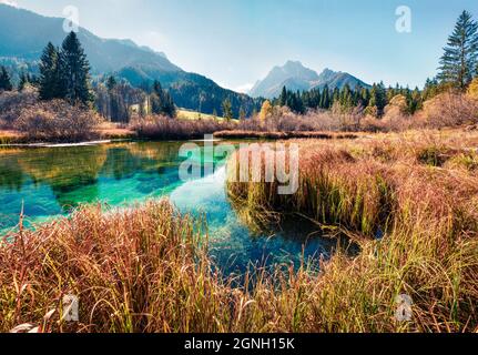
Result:
{"label": "dark green and golden tree reflections on the lake's left side", "polygon": [[0,152],[0,187],[20,191],[29,180],[49,185],[68,210],[98,200],[100,176],[123,180],[141,172],[139,191],[148,194],[177,179],[180,146],[148,142]]}

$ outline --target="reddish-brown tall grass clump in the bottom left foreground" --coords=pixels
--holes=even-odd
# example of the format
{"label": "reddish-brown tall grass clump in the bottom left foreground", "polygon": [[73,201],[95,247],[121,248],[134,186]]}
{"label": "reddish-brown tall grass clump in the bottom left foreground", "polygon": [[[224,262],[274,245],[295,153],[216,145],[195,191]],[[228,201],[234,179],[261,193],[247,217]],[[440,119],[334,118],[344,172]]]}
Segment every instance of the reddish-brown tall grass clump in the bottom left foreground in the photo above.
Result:
{"label": "reddish-brown tall grass clump in the bottom left foreground", "polygon": [[[227,293],[202,235],[167,201],[122,212],[81,207],[21,229],[0,246],[0,331],[226,331]],[[62,321],[68,294],[80,300],[79,323]]]}

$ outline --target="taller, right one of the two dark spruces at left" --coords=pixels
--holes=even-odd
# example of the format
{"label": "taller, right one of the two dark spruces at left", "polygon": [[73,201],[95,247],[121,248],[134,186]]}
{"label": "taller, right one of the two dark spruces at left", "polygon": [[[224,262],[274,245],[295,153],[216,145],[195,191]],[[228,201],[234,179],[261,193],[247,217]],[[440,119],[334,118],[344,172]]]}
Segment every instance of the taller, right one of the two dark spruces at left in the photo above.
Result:
{"label": "taller, right one of the two dark spruces at left", "polygon": [[90,104],[90,63],[73,31],[64,39],[60,52],[61,92],[72,104]]}

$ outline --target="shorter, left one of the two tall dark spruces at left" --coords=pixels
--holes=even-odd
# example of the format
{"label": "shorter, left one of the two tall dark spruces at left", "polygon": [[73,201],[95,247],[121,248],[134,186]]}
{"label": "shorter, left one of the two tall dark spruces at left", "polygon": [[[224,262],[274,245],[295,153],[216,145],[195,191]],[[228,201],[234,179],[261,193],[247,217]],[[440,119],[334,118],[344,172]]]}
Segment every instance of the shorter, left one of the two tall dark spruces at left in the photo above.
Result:
{"label": "shorter, left one of the two tall dark spruces at left", "polygon": [[41,100],[64,98],[61,90],[60,53],[51,42],[47,44],[40,59],[39,87]]}

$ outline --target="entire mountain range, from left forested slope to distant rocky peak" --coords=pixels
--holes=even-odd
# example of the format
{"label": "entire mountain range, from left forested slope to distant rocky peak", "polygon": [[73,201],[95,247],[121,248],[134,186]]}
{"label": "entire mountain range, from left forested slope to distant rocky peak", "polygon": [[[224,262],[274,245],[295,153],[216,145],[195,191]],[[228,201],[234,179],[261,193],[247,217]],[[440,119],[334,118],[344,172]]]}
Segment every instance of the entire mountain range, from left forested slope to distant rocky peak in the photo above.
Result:
{"label": "entire mountain range, from left forested slope to distant rocky peak", "polygon": [[[48,42],[61,45],[67,33],[62,18],[43,17],[29,10],[0,3],[0,64],[20,70],[38,72],[38,62]],[[261,108],[260,98],[278,97],[283,87],[289,90],[343,88],[349,84],[367,87],[357,78],[343,72],[324,70],[317,74],[301,62],[288,61],[275,67],[258,81],[250,94],[221,88],[213,80],[187,72],[172,63],[165,53],[141,47],[131,40],[102,39],[87,29],[79,28],[78,37],[91,64],[93,77],[114,74],[134,87],[159,80],[169,89],[176,105],[204,113],[222,113],[222,103],[228,99],[233,113],[241,109],[246,114]]]}

